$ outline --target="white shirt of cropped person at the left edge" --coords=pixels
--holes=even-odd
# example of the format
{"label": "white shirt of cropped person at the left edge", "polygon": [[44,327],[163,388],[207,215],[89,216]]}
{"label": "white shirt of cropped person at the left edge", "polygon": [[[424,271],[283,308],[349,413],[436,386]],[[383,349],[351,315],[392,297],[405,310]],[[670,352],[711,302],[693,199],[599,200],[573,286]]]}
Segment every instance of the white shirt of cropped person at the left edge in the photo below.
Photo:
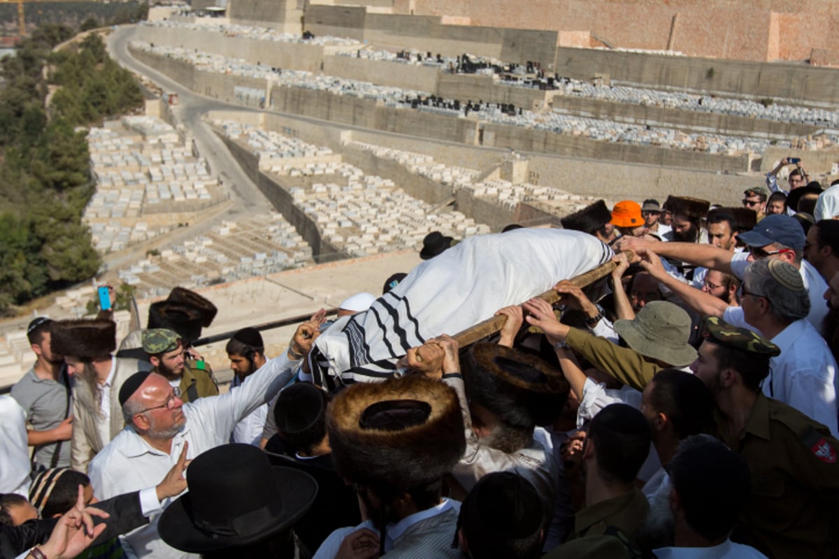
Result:
{"label": "white shirt of cropped person at the left edge", "polygon": [[29,499],[29,443],[26,411],[12,396],[0,396],[0,493]]}

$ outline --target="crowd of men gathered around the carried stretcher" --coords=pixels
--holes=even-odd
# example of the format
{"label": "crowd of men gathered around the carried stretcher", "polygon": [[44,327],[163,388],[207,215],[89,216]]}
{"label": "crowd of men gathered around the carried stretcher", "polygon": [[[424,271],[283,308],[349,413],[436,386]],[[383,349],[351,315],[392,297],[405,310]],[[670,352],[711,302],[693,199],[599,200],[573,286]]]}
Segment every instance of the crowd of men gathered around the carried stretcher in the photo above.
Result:
{"label": "crowd of men gathered around the carried stretcher", "polygon": [[[273,358],[232,334],[221,394],[196,292],[118,346],[102,313],[36,318],[0,397],[0,556],[836,557],[839,186],[806,179],[782,160],[742,207],[591,204],[562,225],[613,251],[607,277],[331,390],[323,311]],[[429,236],[424,266],[456,244]]]}

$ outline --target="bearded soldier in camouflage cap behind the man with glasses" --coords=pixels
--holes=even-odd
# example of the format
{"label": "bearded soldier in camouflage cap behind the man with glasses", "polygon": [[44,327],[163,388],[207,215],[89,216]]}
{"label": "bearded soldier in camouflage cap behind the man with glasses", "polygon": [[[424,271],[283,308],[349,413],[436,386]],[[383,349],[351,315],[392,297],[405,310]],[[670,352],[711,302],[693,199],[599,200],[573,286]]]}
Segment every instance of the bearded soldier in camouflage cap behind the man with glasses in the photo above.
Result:
{"label": "bearded soldier in camouflage cap behind the man with glasses", "polygon": [[149,354],[154,372],[164,375],[169,383],[178,382],[181,400],[218,395],[210,366],[204,360],[186,359],[183,340],[175,330],[143,330],[143,350]]}

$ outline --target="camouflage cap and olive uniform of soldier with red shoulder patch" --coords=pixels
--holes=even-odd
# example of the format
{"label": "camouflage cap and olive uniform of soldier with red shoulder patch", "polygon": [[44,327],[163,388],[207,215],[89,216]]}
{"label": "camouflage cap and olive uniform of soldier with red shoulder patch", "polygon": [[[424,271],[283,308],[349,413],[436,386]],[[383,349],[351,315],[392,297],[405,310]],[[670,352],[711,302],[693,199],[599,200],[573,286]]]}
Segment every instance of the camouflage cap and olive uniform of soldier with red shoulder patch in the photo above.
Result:
{"label": "camouflage cap and olive uniform of soldier with red shoulder patch", "polygon": [[[747,329],[706,320],[706,339],[755,355],[779,349]],[[836,557],[839,441],[830,430],[781,401],[758,392],[743,433],[715,414],[717,437],[748,463],[752,490],[732,541],[769,557]]]}

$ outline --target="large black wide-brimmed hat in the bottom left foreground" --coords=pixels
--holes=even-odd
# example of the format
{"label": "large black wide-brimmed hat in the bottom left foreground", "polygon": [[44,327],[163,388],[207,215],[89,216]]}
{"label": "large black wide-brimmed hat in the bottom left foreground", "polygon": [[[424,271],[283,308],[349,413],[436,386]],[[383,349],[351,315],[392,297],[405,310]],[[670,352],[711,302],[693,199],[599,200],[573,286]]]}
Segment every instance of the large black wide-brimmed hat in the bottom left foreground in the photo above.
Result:
{"label": "large black wide-brimmed hat in the bottom left foreground", "polygon": [[190,464],[189,492],[160,515],[169,546],[201,553],[248,546],[289,530],[309,510],[317,483],[297,469],[272,467],[249,444],[225,444]]}

